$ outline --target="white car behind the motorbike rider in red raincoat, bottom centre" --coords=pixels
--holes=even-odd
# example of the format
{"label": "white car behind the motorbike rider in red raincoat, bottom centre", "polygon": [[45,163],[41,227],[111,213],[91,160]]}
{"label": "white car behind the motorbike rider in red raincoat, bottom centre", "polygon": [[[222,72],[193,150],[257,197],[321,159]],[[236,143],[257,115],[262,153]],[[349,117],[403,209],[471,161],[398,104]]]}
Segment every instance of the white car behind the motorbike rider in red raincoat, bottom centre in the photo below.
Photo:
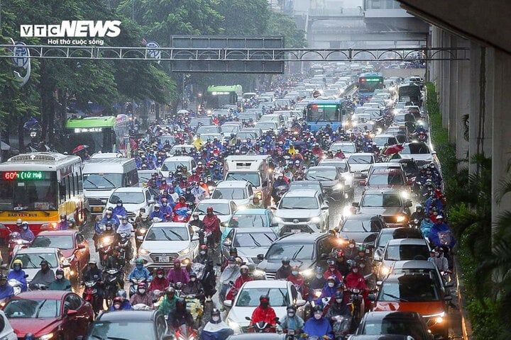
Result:
{"label": "white car behind the motorbike rider in red raincoat, bottom centre", "polygon": [[[270,297],[270,306],[280,319],[284,319],[287,306],[294,304],[297,307],[297,315],[304,318],[304,305],[307,303],[302,295],[290,281],[286,280],[253,280],[243,283],[236,298],[224,301],[224,305],[231,307],[226,317],[226,323],[235,334],[246,333],[249,321],[245,317],[251,317],[255,307],[259,305],[260,295]],[[260,336],[259,336],[260,339]]]}

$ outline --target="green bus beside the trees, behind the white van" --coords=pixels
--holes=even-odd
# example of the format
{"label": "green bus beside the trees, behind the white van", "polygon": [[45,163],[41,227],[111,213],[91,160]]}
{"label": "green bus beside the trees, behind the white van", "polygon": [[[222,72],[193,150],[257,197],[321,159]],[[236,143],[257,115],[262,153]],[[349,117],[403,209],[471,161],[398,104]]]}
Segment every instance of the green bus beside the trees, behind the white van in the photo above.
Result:
{"label": "green bus beside the trees, behind the white van", "polygon": [[127,115],[70,118],[66,125],[66,151],[78,145],[88,145],[89,154],[95,152],[123,152],[129,150]]}

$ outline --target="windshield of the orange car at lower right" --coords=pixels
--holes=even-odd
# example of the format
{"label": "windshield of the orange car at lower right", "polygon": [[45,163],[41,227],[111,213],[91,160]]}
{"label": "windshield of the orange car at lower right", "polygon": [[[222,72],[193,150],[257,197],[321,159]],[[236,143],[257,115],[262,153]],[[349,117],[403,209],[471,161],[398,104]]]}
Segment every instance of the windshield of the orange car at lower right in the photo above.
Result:
{"label": "windshield of the orange car at lower right", "polygon": [[439,299],[433,280],[422,275],[414,279],[402,276],[399,282],[385,282],[378,295],[379,301],[429,302]]}

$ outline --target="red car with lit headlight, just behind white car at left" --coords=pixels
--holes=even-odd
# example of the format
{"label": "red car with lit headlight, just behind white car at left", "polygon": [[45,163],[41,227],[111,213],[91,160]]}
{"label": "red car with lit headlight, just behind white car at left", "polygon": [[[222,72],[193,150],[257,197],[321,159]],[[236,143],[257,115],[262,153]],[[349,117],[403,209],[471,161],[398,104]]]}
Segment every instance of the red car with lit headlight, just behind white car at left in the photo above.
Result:
{"label": "red car with lit headlight, just behind white car at left", "polygon": [[79,278],[90,259],[89,242],[75,229],[45,230],[33,239],[31,248],[55,247],[70,264],[70,278]]}

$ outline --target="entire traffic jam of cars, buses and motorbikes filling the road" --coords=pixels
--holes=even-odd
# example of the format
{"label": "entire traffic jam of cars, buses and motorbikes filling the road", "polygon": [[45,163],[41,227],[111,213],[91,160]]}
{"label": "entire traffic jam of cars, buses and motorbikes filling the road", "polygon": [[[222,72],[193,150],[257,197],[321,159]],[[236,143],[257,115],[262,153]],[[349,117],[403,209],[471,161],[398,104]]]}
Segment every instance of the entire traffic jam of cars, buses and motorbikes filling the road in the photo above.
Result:
{"label": "entire traffic jam of cars, buses and motorbikes filling the road", "polygon": [[387,67],[212,85],[113,146],[70,120],[71,152],[1,163],[0,335],[449,339],[456,240],[424,80]]}

